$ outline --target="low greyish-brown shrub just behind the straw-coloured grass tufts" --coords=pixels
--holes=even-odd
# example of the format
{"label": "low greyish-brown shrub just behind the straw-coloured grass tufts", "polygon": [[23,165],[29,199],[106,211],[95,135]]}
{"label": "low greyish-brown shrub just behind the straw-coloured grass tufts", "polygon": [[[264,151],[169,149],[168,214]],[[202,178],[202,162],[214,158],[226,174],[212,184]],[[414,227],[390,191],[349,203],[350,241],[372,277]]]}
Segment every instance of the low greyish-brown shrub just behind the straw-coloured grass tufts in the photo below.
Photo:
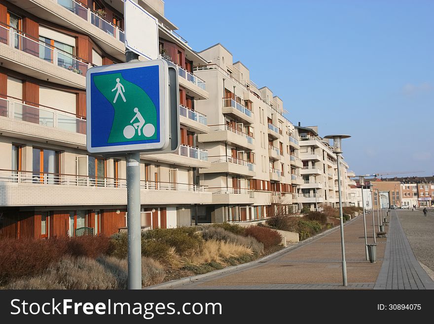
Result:
{"label": "low greyish-brown shrub just behind the straw-coloured grass tufts", "polygon": [[240,236],[232,232],[228,232],[227,230],[219,226],[205,227],[202,230],[202,236],[205,241],[217,240],[217,241],[224,241],[228,243],[235,243],[241,246],[245,246],[246,248],[252,249],[252,251],[256,254],[261,254],[264,251],[263,244],[258,242],[253,237]]}

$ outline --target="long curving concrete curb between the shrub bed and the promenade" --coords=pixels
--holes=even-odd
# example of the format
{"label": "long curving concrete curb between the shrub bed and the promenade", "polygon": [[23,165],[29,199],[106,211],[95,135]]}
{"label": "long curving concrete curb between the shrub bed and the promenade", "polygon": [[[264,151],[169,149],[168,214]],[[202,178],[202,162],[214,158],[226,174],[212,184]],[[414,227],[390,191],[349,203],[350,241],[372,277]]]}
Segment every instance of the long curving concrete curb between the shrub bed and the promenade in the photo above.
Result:
{"label": "long curving concrete curb between the shrub bed and the promenade", "polygon": [[[344,223],[344,226],[346,224],[349,224],[349,223],[353,222],[355,219],[359,218],[360,216],[363,216],[363,215],[359,215],[359,216],[355,216],[355,217],[351,218],[350,220],[348,220],[347,222]],[[295,243],[294,245],[291,245],[289,247],[283,248],[280,251],[268,254],[268,255],[266,255],[264,257],[261,257],[259,259],[256,259],[256,260],[253,260],[253,261],[250,261],[250,262],[247,262],[247,263],[242,263],[242,264],[238,264],[238,265],[229,266],[229,267],[226,267],[226,268],[223,268],[223,269],[214,270],[214,271],[207,272],[207,273],[204,273],[204,274],[201,274],[201,275],[195,275],[195,276],[185,277],[185,278],[182,278],[182,279],[171,280],[171,281],[168,281],[168,282],[165,282],[165,283],[161,283],[161,284],[158,284],[158,285],[149,286],[149,287],[146,287],[144,289],[154,290],[154,289],[170,289],[170,288],[175,288],[175,287],[183,286],[183,285],[186,285],[186,284],[190,284],[192,282],[196,282],[196,281],[198,281],[200,279],[203,279],[203,278],[207,278],[207,277],[211,277],[211,276],[215,276],[215,275],[220,275],[220,274],[224,274],[224,273],[227,273],[227,272],[234,272],[234,271],[239,270],[239,269],[243,269],[243,268],[247,268],[247,267],[251,267],[251,266],[257,265],[259,263],[264,263],[265,261],[267,261],[269,259],[273,259],[275,257],[278,257],[281,254],[285,254],[286,252],[289,252],[290,250],[297,249],[297,248],[302,247],[302,246],[304,246],[306,244],[309,244],[309,243],[311,243],[311,242],[319,239],[320,237],[322,237],[324,235],[327,235],[327,234],[329,234],[329,233],[331,233],[333,231],[338,230],[339,228],[340,228],[340,226],[335,226],[333,228],[327,229],[326,231],[324,231],[322,233],[319,233],[317,235],[314,235],[314,236],[312,236],[312,237],[310,237],[310,238],[308,238],[308,239],[306,239],[306,240],[304,240],[302,242]]]}

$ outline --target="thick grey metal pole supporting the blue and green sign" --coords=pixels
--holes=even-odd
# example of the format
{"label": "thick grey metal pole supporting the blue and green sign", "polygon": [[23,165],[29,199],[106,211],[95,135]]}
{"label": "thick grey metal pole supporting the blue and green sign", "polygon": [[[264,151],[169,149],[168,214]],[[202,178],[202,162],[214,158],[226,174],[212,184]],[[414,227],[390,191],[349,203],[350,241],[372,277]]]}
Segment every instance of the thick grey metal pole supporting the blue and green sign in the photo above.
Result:
{"label": "thick grey metal pole supporting the blue and green sign", "polygon": [[[139,55],[126,50],[127,62]],[[140,153],[127,153],[128,289],[142,289],[142,228],[140,223]]]}

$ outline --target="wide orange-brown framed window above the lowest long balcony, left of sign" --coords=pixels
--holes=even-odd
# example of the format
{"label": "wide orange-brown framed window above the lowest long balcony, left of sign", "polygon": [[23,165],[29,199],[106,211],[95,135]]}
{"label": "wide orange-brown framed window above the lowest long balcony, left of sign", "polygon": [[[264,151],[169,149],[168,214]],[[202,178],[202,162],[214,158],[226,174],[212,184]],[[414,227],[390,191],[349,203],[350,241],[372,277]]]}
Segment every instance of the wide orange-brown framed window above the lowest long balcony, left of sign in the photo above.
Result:
{"label": "wide orange-brown framed window above the lowest long balcony, left of sign", "polygon": [[50,149],[33,148],[33,181],[57,183],[59,180],[60,153]]}

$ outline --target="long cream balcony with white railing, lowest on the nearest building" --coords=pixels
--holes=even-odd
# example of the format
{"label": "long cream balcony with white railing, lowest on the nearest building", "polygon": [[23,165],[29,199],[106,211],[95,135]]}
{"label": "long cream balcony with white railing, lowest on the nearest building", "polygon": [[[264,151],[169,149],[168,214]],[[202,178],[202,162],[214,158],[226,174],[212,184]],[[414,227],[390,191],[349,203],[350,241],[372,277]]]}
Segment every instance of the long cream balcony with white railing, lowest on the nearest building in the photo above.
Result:
{"label": "long cream balcony with white railing, lowest on the nearest building", "polygon": [[[140,181],[141,204],[210,204],[200,185]],[[126,205],[125,179],[0,170],[0,206]]]}

